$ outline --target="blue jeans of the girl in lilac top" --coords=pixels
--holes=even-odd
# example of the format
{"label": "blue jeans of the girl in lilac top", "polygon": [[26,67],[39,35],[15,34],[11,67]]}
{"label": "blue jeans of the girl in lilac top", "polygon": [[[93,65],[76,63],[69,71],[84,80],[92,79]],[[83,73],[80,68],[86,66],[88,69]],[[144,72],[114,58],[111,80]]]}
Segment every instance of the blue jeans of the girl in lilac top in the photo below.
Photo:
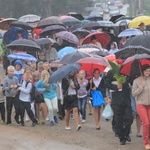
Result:
{"label": "blue jeans of the girl in lilac top", "polygon": [[78,99],[78,110],[82,115],[82,119],[86,119],[86,104],[87,104],[87,96]]}

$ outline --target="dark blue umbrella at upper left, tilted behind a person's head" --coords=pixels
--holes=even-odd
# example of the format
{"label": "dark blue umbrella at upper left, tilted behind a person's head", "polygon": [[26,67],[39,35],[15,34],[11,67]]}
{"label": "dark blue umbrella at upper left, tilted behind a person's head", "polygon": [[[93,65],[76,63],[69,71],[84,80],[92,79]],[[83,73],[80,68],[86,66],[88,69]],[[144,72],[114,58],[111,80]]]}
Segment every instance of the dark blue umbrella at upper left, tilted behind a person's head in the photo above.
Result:
{"label": "dark blue umbrella at upper left, tilted behind a person's head", "polygon": [[19,27],[13,27],[13,28],[10,28],[7,32],[5,32],[4,42],[6,44],[10,44],[11,42],[17,40],[18,39],[18,35],[17,35],[18,32],[22,33],[23,39],[27,39],[28,32],[26,30],[19,28]]}

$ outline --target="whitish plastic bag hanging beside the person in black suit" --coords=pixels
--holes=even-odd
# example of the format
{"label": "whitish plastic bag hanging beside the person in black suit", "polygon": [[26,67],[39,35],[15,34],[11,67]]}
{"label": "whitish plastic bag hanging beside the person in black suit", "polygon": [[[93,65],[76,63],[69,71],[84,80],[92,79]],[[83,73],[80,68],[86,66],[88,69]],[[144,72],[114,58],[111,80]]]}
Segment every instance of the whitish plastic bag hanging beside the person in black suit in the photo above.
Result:
{"label": "whitish plastic bag hanging beside the person in black suit", "polygon": [[106,107],[104,108],[103,112],[102,112],[102,117],[104,119],[112,119],[114,113],[113,113],[113,110],[110,106],[110,104],[107,104]]}

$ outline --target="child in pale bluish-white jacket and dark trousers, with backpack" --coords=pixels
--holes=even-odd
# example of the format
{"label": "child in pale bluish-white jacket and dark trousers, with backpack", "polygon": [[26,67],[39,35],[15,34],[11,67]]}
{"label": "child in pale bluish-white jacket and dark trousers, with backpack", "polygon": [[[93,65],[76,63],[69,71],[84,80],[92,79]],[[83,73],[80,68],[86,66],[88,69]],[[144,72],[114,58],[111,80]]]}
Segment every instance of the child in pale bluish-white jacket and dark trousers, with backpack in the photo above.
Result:
{"label": "child in pale bluish-white jacket and dark trousers, with backpack", "polygon": [[32,83],[30,82],[30,74],[26,72],[24,74],[24,79],[21,87],[19,87],[19,99],[21,101],[21,125],[24,126],[24,113],[26,110],[29,118],[32,120],[32,126],[34,127],[37,124],[37,120],[31,110],[31,89]]}

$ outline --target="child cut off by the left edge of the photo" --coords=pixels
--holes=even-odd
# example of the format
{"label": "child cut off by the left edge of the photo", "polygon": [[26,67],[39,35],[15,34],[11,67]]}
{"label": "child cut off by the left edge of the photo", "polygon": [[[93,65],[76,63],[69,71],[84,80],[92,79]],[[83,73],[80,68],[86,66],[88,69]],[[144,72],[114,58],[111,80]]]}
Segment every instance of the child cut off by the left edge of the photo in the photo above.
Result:
{"label": "child cut off by the left edge of the photo", "polygon": [[[0,78],[0,84],[1,84],[1,78]],[[0,113],[1,113],[1,119],[4,123],[5,122],[5,96],[3,94],[2,84],[0,85]]]}

